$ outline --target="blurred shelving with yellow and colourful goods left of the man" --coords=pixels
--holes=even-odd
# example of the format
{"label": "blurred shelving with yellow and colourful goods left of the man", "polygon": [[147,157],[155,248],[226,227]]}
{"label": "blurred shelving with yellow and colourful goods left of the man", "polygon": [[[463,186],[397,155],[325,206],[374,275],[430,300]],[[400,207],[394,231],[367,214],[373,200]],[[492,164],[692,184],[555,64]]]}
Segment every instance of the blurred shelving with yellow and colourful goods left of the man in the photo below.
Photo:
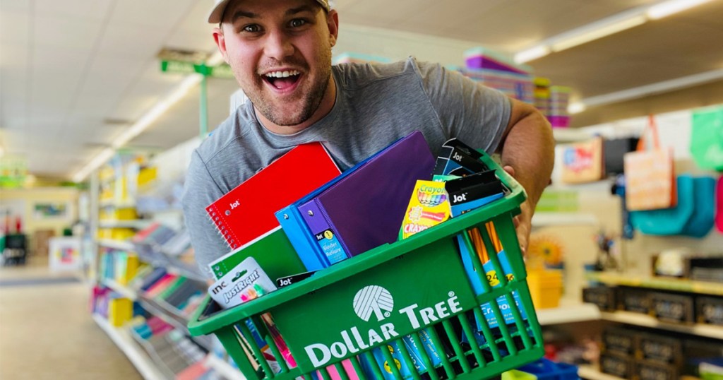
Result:
{"label": "blurred shelving with yellow and colourful goods left of the man", "polygon": [[190,337],[205,295],[183,227],[187,159],[200,140],[148,157],[125,154],[98,172],[98,273],[93,318],[145,379],[240,379],[217,339]]}

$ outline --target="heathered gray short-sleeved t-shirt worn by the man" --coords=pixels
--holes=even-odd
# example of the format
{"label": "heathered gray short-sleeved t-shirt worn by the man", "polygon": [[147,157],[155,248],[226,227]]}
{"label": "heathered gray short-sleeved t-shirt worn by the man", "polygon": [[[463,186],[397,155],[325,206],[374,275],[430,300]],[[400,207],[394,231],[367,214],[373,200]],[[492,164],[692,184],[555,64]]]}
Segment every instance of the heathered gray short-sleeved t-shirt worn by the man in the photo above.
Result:
{"label": "heathered gray short-sleeved t-shirt worn by the man", "polygon": [[183,209],[196,261],[208,264],[229,252],[205,207],[302,143],[320,141],[342,170],[420,130],[432,153],[449,138],[495,151],[510,119],[510,101],[438,64],[409,58],[394,64],[341,64],[332,69],[333,109],[294,135],[266,130],[250,102],[239,106],[194,151]]}

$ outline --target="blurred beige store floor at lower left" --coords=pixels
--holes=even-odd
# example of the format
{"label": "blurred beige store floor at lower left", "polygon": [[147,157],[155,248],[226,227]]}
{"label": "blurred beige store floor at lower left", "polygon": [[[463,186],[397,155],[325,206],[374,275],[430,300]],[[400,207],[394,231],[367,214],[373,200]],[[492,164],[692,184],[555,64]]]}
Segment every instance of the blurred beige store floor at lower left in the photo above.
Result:
{"label": "blurred beige store floor at lower left", "polygon": [[0,379],[142,379],[91,318],[88,296],[47,258],[0,267]]}

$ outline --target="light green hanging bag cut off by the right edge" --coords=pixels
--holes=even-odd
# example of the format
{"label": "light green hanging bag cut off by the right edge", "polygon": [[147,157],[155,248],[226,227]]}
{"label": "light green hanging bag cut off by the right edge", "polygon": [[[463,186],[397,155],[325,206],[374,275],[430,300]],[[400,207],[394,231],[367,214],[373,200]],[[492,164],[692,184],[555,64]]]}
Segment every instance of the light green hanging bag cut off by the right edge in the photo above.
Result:
{"label": "light green hanging bag cut off by the right edge", "polygon": [[723,107],[693,112],[690,155],[703,169],[723,171]]}

